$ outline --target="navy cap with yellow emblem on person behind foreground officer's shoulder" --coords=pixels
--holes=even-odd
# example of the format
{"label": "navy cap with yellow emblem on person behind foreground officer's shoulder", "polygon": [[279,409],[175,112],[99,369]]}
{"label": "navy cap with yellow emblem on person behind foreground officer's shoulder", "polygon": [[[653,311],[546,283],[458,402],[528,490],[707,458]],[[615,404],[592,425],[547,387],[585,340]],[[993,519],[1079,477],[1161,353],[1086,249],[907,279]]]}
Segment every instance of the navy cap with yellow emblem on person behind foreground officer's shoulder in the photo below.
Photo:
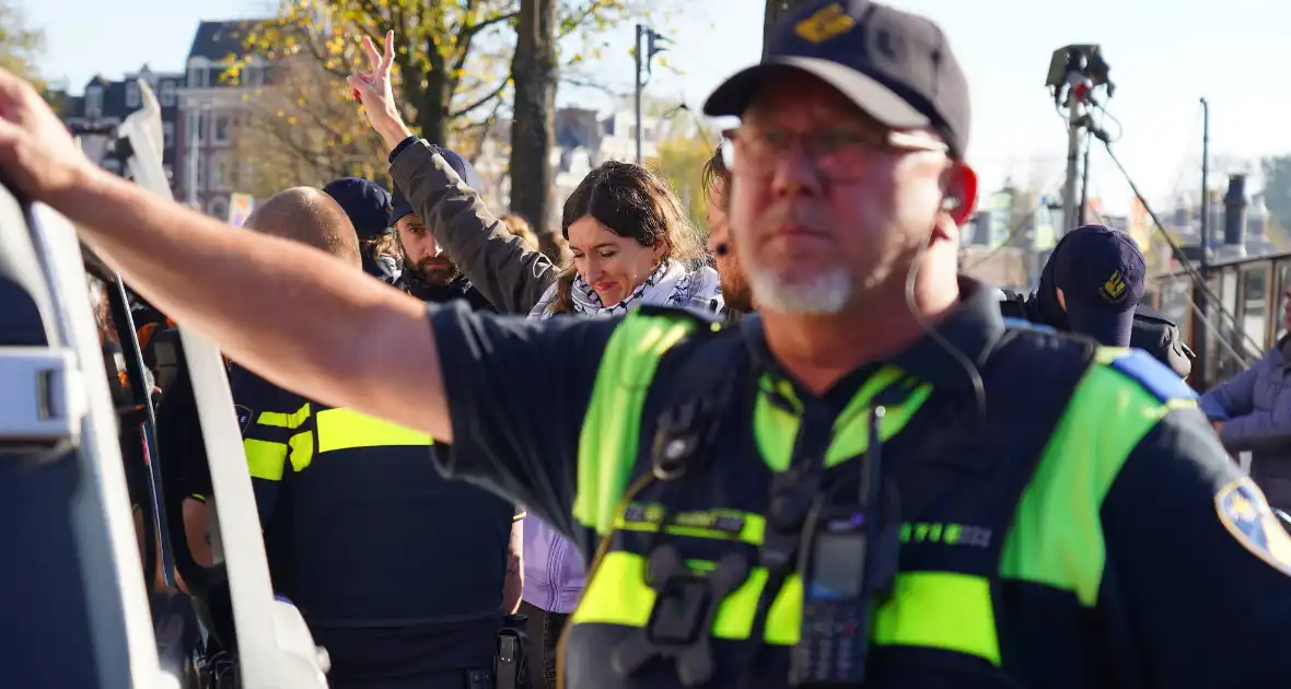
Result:
{"label": "navy cap with yellow emblem on person behind foreground officer's shoulder", "polygon": [[1103,225],[1086,225],[1062,237],[1051,261],[1070,330],[1128,347],[1148,272],[1135,240]]}

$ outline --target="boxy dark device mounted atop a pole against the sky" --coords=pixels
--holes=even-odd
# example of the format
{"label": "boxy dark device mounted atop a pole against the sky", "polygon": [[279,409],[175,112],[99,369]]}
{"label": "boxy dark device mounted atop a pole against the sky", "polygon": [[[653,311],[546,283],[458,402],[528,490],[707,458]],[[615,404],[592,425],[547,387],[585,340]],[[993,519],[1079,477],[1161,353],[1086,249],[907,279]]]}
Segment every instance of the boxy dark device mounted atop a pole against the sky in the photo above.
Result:
{"label": "boxy dark device mounted atop a pole against the sky", "polygon": [[1081,217],[1077,196],[1079,179],[1081,134],[1088,130],[1104,138],[1106,134],[1093,128],[1090,111],[1099,105],[1095,92],[1106,90],[1110,98],[1115,84],[1108,79],[1108,63],[1103,48],[1096,44],[1073,44],[1059,48],[1050,58],[1048,79],[1044,85],[1053,95],[1053,107],[1066,108],[1066,182],[1062,186],[1062,228],[1075,226]]}

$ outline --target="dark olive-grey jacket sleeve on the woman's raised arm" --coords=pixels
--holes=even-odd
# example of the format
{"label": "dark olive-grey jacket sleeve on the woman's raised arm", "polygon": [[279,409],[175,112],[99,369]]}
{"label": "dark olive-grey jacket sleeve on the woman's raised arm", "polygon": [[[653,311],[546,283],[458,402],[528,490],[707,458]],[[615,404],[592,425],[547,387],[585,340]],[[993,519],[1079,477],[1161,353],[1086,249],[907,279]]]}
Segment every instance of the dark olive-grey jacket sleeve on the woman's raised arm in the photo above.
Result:
{"label": "dark olive-grey jacket sleeve on the woman's raised arm", "polygon": [[453,263],[500,314],[528,315],[560,272],[511,235],[430,143],[418,141],[390,165],[395,185]]}

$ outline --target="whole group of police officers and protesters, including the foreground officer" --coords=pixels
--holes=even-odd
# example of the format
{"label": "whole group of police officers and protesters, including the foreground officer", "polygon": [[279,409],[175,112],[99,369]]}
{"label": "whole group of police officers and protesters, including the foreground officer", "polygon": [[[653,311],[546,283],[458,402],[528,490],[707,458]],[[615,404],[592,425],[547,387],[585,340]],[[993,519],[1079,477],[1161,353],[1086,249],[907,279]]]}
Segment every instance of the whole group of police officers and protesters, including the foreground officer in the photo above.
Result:
{"label": "whole group of police officers and protesters, including the foreground officer", "polygon": [[402,120],[395,44],[347,81],[392,191],[285,190],[239,232],[97,170],[0,72],[5,178],[231,357],[271,577],[333,686],[501,685],[511,632],[541,689],[1291,683],[1291,538],[1133,243],[1069,232],[1032,295],[958,275],[968,86],[936,25],[784,18],[705,105],[740,117],[706,248],[627,163],[559,241],[498,214]]}

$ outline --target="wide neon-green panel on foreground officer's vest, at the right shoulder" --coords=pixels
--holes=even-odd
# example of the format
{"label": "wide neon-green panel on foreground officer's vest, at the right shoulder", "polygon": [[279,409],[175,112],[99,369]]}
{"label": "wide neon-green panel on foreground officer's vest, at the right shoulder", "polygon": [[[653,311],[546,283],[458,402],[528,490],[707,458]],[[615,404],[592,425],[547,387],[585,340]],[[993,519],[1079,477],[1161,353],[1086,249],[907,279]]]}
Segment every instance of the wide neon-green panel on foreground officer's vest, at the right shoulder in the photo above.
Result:
{"label": "wide neon-green panel on foreground officer's vest, at the right shoulder", "polygon": [[1130,453],[1171,409],[1194,400],[1159,397],[1126,384],[1114,368],[1130,350],[1100,347],[1041,455],[1004,541],[1001,577],[1099,600],[1106,560],[1103,501]]}

